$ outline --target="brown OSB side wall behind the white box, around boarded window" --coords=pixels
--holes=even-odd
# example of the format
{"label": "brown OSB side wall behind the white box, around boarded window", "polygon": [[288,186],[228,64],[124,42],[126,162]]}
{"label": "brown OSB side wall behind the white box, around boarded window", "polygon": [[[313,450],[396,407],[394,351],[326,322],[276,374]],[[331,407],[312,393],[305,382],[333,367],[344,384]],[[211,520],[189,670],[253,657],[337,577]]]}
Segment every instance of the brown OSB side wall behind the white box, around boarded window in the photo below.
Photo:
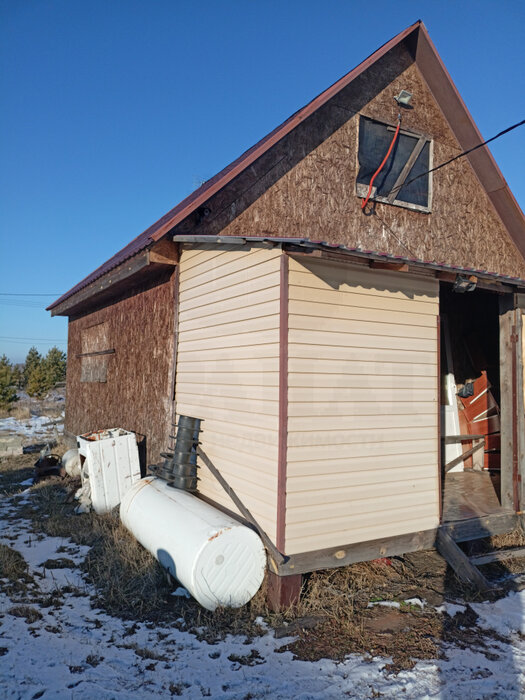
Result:
{"label": "brown OSB side wall behind the white box, around boarded window", "polygon": [[[100,428],[133,430],[146,436],[148,463],[158,461],[168,446],[171,422],[173,299],[170,268],[126,298],[70,320],[66,431],[78,435]],[[115,354],[104,356],[104,383],[81,382],[82,358],[77,355],[84,351],[83,332],[100,324]]]}

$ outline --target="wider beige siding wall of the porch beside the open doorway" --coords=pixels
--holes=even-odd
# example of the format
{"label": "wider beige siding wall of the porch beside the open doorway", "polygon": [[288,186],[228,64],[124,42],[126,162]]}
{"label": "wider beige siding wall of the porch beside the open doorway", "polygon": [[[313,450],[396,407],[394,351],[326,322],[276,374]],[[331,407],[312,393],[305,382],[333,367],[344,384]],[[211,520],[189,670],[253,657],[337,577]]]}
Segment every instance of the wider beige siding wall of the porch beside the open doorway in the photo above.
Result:
{"label": "wider beige siding wall of the porch beside the open doorway", "polygon": [[438,524],[436,280],[290,258],[286,553]]}

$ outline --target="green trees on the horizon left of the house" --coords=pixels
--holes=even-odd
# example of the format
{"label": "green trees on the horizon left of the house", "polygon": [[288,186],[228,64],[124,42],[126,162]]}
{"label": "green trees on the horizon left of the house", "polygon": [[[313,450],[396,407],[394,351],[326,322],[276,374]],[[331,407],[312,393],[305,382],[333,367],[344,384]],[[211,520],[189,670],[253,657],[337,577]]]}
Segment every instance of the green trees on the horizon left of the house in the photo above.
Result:
{"label": "green trees on the horizon left of the house", "polygon": [[57,347],[41,355],[35,347],[27,353],[25,363],[14,365],[6,355],[0,357],[0,408],[18,401],[18,392],[42,398],[66,378],[66,353]]}

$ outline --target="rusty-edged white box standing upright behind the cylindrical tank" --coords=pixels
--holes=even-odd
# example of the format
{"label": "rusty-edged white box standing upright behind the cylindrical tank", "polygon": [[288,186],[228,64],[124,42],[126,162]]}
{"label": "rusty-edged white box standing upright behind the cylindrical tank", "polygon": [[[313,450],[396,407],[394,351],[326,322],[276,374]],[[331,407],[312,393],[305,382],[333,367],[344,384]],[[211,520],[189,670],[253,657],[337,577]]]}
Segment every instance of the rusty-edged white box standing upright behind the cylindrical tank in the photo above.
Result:
{"label": "rusty-edged white box standing upright behind the cylindrical tank", "polygon": [[89,482],[95,513],[108,513],[140,479],[135,433],[122,428],[97,430],[78,435],[77,442],[82,486]]}

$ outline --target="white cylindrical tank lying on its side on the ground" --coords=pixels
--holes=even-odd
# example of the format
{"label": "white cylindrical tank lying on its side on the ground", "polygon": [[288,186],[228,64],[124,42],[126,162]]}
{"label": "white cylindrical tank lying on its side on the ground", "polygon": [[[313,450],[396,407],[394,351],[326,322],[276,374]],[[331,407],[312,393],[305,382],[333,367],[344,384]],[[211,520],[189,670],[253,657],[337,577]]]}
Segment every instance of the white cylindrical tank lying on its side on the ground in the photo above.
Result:
{"label": "white cylindrical tank lying on its side on the ground", "polygon": [[122,499],[120,517],[207,610],[240,608],[259,590],[266,568],[259,536],[196,496],[146,477]]}

